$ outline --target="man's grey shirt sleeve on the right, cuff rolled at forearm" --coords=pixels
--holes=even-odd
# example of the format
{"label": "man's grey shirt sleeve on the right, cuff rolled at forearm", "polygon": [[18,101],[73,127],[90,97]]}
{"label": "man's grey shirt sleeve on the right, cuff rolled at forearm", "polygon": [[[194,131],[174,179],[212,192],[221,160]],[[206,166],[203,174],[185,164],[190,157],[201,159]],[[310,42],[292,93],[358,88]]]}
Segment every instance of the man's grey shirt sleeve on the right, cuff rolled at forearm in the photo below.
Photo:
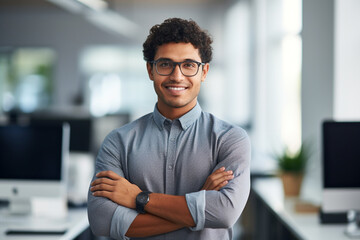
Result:
{"label": "man's grey shirt sleeve on the right, cuff rolled at forearm", "polygon": [[205,191],[205,198],[195,193],[190,194],[191,198],[187,197],[196,223],[192,230],[230,228],[235,224],[250,192],[250,158],[250,140],[244,130],[232,129],[220,139],[218,164],[214,171],[225,167],[234,172],[234,178],[220,191]]}

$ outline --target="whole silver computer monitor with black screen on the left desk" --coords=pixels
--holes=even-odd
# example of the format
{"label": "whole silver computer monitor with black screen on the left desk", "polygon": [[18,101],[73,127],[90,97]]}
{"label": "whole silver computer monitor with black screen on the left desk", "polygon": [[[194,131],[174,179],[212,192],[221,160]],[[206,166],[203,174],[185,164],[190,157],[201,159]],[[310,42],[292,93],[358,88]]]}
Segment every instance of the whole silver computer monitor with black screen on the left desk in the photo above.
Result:
{"label": "whole silver computer monitor with black screen on the left desk", "polygon": [[31,213],[36,197],[66,199],[69,139],[68,124],[0,126],[0,199],[11,213]]}

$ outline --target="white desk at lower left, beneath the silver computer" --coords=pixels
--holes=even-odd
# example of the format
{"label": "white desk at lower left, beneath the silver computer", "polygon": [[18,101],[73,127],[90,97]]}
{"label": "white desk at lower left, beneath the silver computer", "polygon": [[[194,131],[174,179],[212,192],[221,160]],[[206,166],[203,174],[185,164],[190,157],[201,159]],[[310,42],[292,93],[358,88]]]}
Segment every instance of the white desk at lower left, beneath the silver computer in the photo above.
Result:
{"label": "white desk at lower left, beneath the silver computer", "polygon": [[[24,219],[24,222],[28,219]],[[6,235],[9,229],[16,229],[16,226],[24,222],[14,219],[0,219],[0,239],[1,240],[72,240],[83,233],[88,227],[86,208],[69,209],[68,216],[64,220],[59,220],[59,229],[65,227],[64,234],[50,235]],[[45,225],[47,225],[45,223]],[[17,228],[19,229],[19,227]],[[20,228],[21,229],[21,228]]]}

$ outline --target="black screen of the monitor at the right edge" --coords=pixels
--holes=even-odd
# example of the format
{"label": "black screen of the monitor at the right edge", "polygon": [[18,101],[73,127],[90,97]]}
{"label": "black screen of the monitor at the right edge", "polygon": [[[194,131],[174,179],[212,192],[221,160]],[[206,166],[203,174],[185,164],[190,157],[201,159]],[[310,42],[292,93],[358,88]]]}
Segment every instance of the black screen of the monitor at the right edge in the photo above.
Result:
{"label": "black screen of the monitor at the right edge", "polygon": [[324,122],[325,188],[360,188],[360,122]]}

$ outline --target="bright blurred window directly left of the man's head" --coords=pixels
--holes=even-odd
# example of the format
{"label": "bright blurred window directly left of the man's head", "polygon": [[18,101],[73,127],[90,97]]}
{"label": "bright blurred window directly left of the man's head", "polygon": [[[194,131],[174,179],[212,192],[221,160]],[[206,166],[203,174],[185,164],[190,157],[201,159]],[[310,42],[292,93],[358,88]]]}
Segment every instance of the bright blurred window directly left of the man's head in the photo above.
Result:
{"label": "bright blurred window directly left of the man's head", "polygon": [[135,119],[153,110],[155,93],[142,59],[139,47],[93,46],[83,51],[80,65],[92,115],[127,112]]}

